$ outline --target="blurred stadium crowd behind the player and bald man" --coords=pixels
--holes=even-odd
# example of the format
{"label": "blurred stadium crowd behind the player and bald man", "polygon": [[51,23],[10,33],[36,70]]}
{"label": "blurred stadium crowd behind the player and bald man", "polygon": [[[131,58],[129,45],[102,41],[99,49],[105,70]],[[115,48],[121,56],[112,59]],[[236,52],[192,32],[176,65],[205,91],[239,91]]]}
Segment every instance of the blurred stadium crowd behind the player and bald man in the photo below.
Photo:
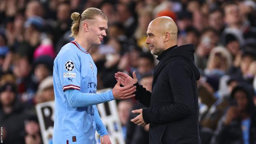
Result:
{"label": "blurred stadium crowd behind the player and bald man", "polygon": [[[157,60],[145,43],[146,30],[154,18],[169,16],[178,26],[178,45],[195,46],[195,62],[201,72],[202,143],[248,139],[248,134],[242,133],[246,125],[232,123],[248,114],[250,138],[256,141],[252,130],[256,128],[255,1],[0,0],[0,126],[4,143],[42,143],[34,106],[54,100],[53,60],[62,46],[73,40],[69,37],[71,13],[82,13],[88,7],[102,9],[108,18],[107,37],[90,51],[98,68],[98,89],[114,87],[117,71],[137,71],[139,83],[151,91]],[[149,126],[130,122],[135,117],[130,111],[142,107],[133,99],[118,101],[127,144],[148,143]]]}

